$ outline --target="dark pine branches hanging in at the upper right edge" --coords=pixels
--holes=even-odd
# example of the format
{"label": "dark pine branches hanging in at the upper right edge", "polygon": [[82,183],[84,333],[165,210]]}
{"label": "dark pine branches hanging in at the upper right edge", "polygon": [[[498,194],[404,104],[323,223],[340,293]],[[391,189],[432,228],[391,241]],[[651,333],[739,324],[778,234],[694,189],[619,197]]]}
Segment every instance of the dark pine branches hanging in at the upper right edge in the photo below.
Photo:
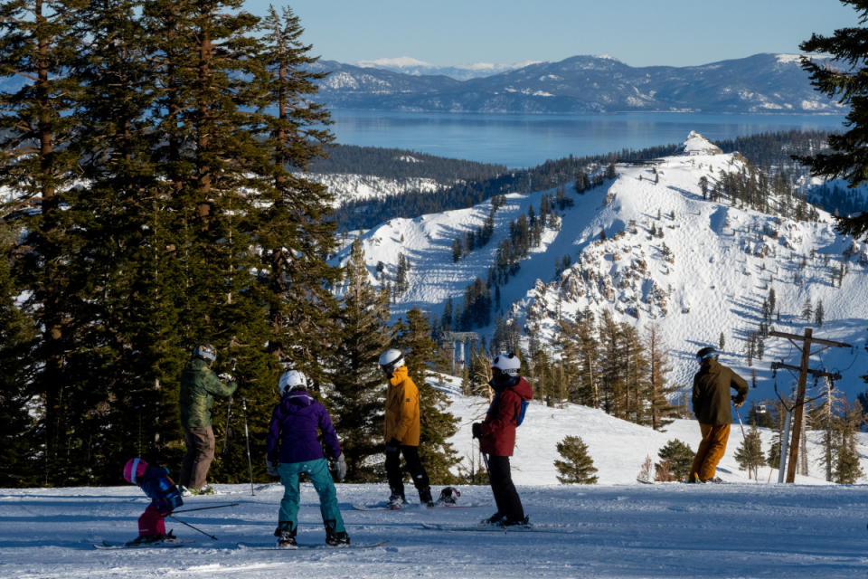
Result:
{"label": "dark pine branches hanging in at the upper right edge", "polygon": [[[841,0],[859,14],[859,23],[868,21],[868,2],[865,0]],[[802,52],[814,52],[823,58],[802,57],[802,68],[808,72],[815,90],[830,99],[849,105],[850,112],[844,123],[845,130],[829,135],[830,152],[818,152],[810,157],[798,157],[809,166],[811,174],[824,177],[843,177],[850,186],[868,180],[868,161],[863,156],[863,143],[868,138],[868,102],[863,95],[868,90],[868,29],[850,26],[836,30],[831,36],[812,34],[810,40],[799,44]],[[825,55],[833,58],[826,59]],[[844,63],[839,65],[837,62]],[[868,233],[868,214],[838,217],[836,229],[844,235],[860,238]]]}

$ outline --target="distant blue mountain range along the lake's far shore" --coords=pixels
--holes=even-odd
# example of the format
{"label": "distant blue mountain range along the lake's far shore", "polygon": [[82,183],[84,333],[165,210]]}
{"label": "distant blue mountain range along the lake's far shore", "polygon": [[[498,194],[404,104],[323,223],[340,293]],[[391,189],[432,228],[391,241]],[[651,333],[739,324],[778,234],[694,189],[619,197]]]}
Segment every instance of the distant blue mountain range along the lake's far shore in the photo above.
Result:
{"label": "distant blue mountain range along the lake's far shore", "polygon": [[[344,109],[474,113],[837,113],[811,87],[794,54],[762,53],[701,66],[632,67],[609,56],[573,56],[464,81],[406,66],[335,61],[318,99]],[[381,66],[388,65],[388,62]],[[398,70],[410,70],[402,73]]]}

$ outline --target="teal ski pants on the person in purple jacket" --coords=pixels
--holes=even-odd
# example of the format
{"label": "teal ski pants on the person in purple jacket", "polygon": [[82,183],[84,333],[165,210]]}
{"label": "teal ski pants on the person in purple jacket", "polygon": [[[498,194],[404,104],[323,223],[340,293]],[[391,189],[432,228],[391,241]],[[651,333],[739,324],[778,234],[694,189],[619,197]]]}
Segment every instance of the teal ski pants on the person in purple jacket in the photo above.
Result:
{"label": "teal ski pants on the person in purple jacket", "polygon": [[298,527],[298,502],[300,492],[298,489],[298,477],[301,473],[307,473],[307,478],[319,495],[319,512],[323,516],[323,524],[327,527],[327,521],[335,521],[335,532],[343,533],[344,518],[341,517],[340,508],[337,507],[337,491],[335,482],[328,471],[328,463],[325,459],[306,460],[304,462],[289,462],[280,464],[278,473],[280,482],[283,483],[283,498],[280,499],[278,511],[278,523],[288,521],[290,528]]}

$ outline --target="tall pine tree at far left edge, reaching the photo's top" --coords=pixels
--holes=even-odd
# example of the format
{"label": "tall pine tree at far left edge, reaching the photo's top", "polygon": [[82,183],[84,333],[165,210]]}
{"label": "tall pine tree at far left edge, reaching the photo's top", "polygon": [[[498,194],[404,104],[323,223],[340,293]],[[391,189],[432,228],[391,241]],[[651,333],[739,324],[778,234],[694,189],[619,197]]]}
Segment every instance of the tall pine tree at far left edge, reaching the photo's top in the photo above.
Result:
{"label": "tall pine tree at far left edge, reaching the photo's top", "polygon": [[[84,386],[81,368],[66,363],[79,347],[75,329],[90,322],[82,299],[87,296],[80,288],[82,272],[66,260],[81,242],[80,234],[71,234],[78,232],[74,224],[82,217],[71,191],[77,160],[73,111],[80,95],[74,75],[82,48],[80,8],[81,3],[63,0],[0,5],[0,80],[27,80],[14,82],[11,86],[20,88],[11,92],[0,91],[0,187],[14,192],[0,206],[0,215],[14,218],[24,233],[7,255],[14,256],[15,286],[26,291],[21,307],[41,331],[31,351],[34,372],[25,387],[42,414],[39,452],[43,484],[48,485],[77,481],[71,461],[86,459],[80,440],[88,435],[74,423],[85,409],[72,405]],[[0,370],[16,373],[10,367]]]}

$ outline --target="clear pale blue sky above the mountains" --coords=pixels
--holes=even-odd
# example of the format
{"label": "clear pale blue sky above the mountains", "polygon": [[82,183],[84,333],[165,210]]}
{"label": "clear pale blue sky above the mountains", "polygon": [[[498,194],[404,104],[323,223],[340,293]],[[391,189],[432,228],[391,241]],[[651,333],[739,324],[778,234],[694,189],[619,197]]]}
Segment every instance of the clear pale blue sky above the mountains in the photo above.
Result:
{"label": "clear pale blue sky above the mountains", "polygon": [[[247,0],[265,14],[269,0]],[[410,56],[438,65],[609,54],[689,66],[798,52],[811,33],[857,25],[838,0],[294,0],[303,42],[325,60]]]}

